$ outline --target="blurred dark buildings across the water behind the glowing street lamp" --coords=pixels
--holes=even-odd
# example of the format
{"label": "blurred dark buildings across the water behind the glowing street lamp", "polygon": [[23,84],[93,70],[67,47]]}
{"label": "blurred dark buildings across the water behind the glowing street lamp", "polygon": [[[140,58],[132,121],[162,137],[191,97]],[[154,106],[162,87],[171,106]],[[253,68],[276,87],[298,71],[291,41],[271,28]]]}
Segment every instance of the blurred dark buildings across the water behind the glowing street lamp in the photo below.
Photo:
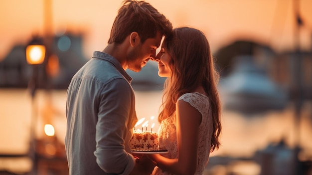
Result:
{"label": "blurred dark buildings across the water behind the glowing street lamp", "polygon": [[[44,38],[46,41],[47,39]],[[66,33],[53,36],[51,48],[47,48],[49,57],[38,65],[37,87],[66,89],[72,76],[88,59],[82,52],[82,35]],[[0,88],[26,88],[32,74],[32,65],[26,62],[26,45],[15,45],[0,62]],[[50,57],[52,55],[52,57]],[[53,75],[49,71],[49,60],[54,61]]]}

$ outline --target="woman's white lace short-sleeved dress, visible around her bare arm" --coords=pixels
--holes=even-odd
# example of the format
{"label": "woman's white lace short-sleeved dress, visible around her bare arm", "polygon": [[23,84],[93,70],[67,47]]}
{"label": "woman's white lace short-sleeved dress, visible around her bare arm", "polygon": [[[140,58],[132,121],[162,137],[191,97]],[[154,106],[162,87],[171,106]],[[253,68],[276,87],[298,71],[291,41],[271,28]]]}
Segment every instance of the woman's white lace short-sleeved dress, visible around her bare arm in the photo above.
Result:
{"label": "woman's white lace short-sleeved dress, visible around her bare arm", "polygon": [[[202,115],[202,121],[199,126],[199,140],[197,150],[197,169],[195,175],[203,175],[205,166],[208,163],[210,154],[210,143],[213,132],[212,114],[210,110],[209,99],[207,96],[193,92],[183,94],[178,100],[183,100]],[[192,116],[189,116],[192,117]],[[175,115],[163,120],[158,130],[159,146],[168,150],[169,153],[162,156],[170,159],[178,158],[177,141],[176,141],[176,122]],[[190,150],[191,152],[192,150]],[[167,172],[162,172],[158,167],[155,168],[153,175],[173,175]]]}

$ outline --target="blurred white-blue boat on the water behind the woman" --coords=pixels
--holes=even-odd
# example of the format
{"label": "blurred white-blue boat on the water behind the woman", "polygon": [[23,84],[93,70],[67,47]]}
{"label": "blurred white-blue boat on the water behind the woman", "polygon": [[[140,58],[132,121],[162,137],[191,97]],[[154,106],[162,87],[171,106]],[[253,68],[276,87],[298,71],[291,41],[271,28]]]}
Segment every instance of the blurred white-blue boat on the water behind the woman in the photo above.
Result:
{"label": "blurred white-blue boat on the water behind the woman", "polygon": [[252,56],[238,56],[233,72],[220,79],[222,103],[226,110],[256,114],[282,110],[288,95],[255,65]]}

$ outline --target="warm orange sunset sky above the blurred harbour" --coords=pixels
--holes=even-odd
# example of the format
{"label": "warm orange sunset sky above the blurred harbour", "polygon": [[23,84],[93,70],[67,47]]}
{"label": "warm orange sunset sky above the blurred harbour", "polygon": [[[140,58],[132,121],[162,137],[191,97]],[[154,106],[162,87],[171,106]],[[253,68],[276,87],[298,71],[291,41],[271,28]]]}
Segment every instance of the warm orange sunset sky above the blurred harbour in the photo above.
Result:
{"label": "warm orange sunset sky above the blurred harbour", "polygon": [[[277,51],[294,46],[294,0],[146,0],[174,27],[201,29],[212,50],[238,37],[260,39]],[[312,0],[300,1],[304,49],[311,48]],[[86,57],[102,50],[122,0],[51,0],[51,31],[84,34]],[[0,0],[0,60],[32,33],[45,33],[44,0]]]}

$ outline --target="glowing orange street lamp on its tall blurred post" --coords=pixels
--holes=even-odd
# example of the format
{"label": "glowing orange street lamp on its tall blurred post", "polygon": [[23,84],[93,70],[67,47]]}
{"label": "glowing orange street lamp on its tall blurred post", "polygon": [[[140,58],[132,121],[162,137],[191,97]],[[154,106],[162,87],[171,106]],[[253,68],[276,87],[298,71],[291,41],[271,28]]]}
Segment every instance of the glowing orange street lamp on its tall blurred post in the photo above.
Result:
{"label": "glowing orange street lamp on its tall blurred post", "polygon": [[35,127],[37,123],[37,109],[35,107],[35,91],[37,89],[38,66],[43,63],[45,57],[45,46],[41,38],[34,37],[26,46],[26,61],[32,66],[32,76],[28,83],[31,95],[31,126],[30,126],[30,156],[32,160],[32,175],[37,175],[37,155]]}

